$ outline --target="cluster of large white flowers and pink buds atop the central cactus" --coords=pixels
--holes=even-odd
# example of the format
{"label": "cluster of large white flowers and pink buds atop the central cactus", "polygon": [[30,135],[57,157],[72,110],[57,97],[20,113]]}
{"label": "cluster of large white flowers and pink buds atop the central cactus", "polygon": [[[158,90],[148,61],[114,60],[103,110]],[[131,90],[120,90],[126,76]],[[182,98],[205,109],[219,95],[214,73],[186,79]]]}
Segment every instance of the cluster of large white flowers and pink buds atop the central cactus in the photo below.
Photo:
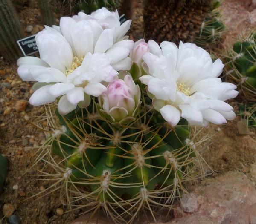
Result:
{"label": "cluster of large white flowers and pink buds atop the central cactus", "polygon": [[45,26],[35,37],[40,58],[17,61],[18,75],[38,82],[29,103],[43,105],[58,98],[58,112],[66,115],[90,105],[93,96],[102,117],[129,123],[141,104],[141,89],[134,83],[139,78],[154,109],[172,126],[181,117],[198,126],[235,118],[224,101],[238,92],[218,78],[221,60],[213,63],[209,53],[192,43],[134,43],[125,36],[130,25],[131,20],[120,24],[117,11],[102,8],[91,15],[62,17],[60,26]]}

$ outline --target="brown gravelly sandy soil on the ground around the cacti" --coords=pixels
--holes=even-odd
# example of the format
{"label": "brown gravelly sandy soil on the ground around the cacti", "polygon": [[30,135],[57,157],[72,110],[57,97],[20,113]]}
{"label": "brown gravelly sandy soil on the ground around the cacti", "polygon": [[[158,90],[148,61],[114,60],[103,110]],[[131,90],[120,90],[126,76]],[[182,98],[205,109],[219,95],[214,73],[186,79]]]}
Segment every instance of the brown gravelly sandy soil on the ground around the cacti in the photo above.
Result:
{"label": "brown gravelly sandy soil on the ground around the cacti", "polygon": [[[28,1],[24,0],[24,2]],[[229,10],[225,10],[225,4],[229,5]],[[43,25],[35,3],[29,7],[20,7],[22,7],[20,18],[24,30],[28,25]],[[241,6],[238,0],[226,0],[223,6],[225,17],[230,18],[232,9],[233,13],[239,13],[239,7],[244,9],[244,5]],[[134,22],[130,35],[131,38],[138,40],[143,37],[140,1],[134,1],[133,11]],[[230,27],[233,29],[232,26]],[[6,218],[3,217],[4,204],[15,206],[15,214],[22,219],[22,224],[67,223],[73,220],[77,213],[67,212],[66,202],[59,197],[57,190],[44,197],[40,194],[36,195],[49,186],[38,180],[36,175],[37,170],[44,164],[39,162],[32,167],[36,159],[36,151],[45,140],[43,130],[36,128],[33,123],[44,108],[33,107],[26,103],[32,93],[30,89],[33,83],[20,80],[16,70],[15,63],[0,59],[0,153],[9,158],[9,172],[0,195],[0,223],[6,223]],[[241,101],[237,98],[230,103],[237,110]],[[239,170],[255,181],[250,170],[256,160],[256,131],[250,129],[250,135],[239,134],[237,128],[241,125],[239,120],[240,118],[237,117],[227,125],[212,125],[206,129],[206,134],[213,136],[204,143],[206,150],[203,156],[215,171],[213,175]],[[14,190],[14,186],[18,189]],[[32,197],[34,195],[36,196]],[[58,214],[58,208],[67,213]]]}

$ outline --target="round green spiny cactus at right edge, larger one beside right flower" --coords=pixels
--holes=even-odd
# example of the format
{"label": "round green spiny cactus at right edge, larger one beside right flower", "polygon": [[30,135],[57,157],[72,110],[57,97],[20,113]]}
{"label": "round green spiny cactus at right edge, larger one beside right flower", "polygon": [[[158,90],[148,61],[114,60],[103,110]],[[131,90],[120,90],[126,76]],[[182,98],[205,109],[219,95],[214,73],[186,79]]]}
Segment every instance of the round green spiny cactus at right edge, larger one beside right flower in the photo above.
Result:
{"label": "round green spiny cactus at right edge, larger one beside right flower", "polygon": [[239,88],[245,101],[256,101],[256,33],[241,37],[225,54],[227,79]]}

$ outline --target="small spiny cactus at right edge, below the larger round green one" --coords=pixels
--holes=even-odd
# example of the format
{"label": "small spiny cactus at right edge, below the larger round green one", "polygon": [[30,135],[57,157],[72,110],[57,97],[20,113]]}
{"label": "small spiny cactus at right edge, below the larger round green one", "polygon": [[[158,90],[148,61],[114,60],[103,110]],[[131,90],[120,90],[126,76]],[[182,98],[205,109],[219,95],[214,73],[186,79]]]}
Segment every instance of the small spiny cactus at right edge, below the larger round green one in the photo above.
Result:
{"label": "small spiny cactus at right edge, below the larger round green one", "polygon": [[239,106],[239,112],[241,120],[246,124],[247,127],[256,128],[256,104],[255,103],[244,103]]}

